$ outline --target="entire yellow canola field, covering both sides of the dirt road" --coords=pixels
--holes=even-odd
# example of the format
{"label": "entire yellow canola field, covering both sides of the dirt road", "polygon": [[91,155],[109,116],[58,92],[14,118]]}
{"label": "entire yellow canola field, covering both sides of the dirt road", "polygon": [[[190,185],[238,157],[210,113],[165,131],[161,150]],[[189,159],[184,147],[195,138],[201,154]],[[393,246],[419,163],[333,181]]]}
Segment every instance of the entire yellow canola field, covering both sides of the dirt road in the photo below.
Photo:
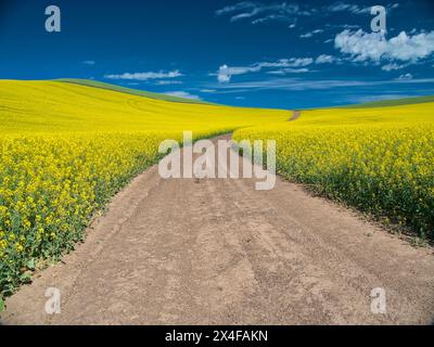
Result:
{"label": "entire yellow canola field, covering both sides of the dirt road", "polygon": [[[169,102],[94,82],[0,80],[2,297],[59,259],[165,139],[276,139],[278,172],[434,239],[434,103],[303,111]],[[165,98],[163,98],[165,99]]]}

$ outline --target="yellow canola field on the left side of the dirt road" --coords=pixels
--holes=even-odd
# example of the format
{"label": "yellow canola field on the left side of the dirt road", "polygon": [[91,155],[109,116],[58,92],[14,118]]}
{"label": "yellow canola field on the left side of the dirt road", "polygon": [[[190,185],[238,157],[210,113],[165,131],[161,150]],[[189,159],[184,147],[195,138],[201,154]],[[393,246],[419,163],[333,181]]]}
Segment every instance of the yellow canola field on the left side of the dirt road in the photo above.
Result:
{"label": "yellow canola field on the left side of the dirt road", "polygon": [[0,80],[0,304],[41,259],[84,239],[92,216],[156,163],[161,141],[289,118],[61,81]]}

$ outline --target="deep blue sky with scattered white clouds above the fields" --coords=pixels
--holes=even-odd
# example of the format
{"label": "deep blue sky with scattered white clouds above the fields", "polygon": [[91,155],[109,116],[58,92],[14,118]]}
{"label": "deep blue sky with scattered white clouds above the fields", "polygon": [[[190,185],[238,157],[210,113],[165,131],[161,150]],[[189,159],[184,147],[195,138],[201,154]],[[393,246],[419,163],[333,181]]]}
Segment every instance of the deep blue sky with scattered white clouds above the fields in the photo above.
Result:
{"label": "deep blue sky with scattered white clouds above the fields", "polygon": [[[61,33],[44,29],[50,4]],[[65,77],[282,108],[434,94],[434,4],[2,0],[0,78]]]}

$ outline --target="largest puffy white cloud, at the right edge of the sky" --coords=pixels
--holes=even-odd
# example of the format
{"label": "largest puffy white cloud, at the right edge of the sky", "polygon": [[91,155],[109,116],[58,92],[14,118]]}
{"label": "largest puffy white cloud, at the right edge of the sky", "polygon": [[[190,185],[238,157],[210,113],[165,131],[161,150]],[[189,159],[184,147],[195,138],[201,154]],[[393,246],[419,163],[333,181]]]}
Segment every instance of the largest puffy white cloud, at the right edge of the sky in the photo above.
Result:
{"label": "largest puffy white cloud, at the right edge of the sky", "polygon": [[354,62],[400,61],[416,63],[434,52],[434,31],[398,36],[386,39],[381,33],[344,30],[336,35],[334,47],[349,54]]}

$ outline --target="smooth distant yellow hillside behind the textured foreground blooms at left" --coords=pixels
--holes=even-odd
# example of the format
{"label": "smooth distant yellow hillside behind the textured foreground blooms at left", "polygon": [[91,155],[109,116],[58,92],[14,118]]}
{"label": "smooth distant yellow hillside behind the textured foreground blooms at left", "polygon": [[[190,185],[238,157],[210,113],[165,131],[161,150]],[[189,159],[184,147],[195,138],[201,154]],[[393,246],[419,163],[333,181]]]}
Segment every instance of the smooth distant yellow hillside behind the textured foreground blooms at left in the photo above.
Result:
{"label": "smooth distant yellow hillside behind the textured foreground blooms at left", "polygon": [[290,116],[279,110],[171,102],[145,92],[114,89],[92,83],[0,80],[0,133],[229,131]]}

